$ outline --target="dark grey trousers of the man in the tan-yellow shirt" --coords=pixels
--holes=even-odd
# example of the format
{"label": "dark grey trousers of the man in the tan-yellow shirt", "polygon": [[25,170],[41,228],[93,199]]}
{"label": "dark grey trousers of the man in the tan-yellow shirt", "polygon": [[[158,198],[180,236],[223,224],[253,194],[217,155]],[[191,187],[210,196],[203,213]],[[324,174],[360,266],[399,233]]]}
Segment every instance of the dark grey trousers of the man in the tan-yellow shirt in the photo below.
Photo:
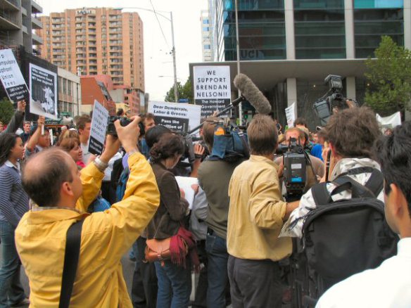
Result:
{"label": "dark grey trousers of the man in the tan-yellow shirt", "polygon": [[233,308],[281,308],[282,283],[278,262],[229,256],[228,276]]}

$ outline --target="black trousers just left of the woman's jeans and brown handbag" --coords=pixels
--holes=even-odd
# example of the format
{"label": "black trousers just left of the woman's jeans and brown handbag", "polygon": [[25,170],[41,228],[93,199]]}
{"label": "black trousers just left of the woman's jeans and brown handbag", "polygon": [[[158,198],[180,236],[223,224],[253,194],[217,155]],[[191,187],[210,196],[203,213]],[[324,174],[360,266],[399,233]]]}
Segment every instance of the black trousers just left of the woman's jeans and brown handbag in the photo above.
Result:
{"label": "black trousers just left of the woman's jeans and brown handbag", "polygon": [[136,267],[132,282],[132,302],[134,308],[156,308],[157,305],[157,276],[154,263],[145,263],[144,250],[146,239],[137,238],[133,245]]}

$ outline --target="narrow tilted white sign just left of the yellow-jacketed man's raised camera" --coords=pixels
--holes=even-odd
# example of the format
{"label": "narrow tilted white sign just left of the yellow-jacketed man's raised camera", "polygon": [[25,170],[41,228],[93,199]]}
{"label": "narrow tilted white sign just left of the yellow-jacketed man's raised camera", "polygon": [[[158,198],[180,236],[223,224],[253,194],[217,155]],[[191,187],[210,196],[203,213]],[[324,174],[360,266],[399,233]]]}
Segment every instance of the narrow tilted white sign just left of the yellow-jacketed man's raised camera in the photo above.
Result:
{"label": "narrow tilted white sign just left of the yellow-jacketed man's raised camera", "polygon": [[89,152],[91,154],[101,155],[103,153],[107,122],[108,110],[98,101],[94,101],[89,138]]}

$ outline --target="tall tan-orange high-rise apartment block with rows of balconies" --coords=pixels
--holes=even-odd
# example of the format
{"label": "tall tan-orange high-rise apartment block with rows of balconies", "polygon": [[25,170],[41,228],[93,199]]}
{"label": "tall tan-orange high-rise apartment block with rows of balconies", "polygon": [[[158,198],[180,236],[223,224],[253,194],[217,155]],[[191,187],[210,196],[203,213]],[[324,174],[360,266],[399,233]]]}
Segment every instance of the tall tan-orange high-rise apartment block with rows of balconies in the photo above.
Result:
{"label": "tall tan-orange high-rise apartment block with rows of balconies", "polygon": [[80,75],[110,75],[144,91],[143,23],[113,8],[67,9],[42,16],[42,58]]}

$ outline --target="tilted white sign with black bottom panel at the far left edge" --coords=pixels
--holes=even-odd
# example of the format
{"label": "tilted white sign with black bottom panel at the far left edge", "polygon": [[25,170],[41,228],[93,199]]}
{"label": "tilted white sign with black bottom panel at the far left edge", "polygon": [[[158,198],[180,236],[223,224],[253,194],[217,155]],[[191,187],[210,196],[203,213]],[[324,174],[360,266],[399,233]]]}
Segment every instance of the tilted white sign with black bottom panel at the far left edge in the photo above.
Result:
{"label": "tilted white sign with black bottom panel at the far left edge", "polygon": [[0,50],[0,79],[10,101],[28,97],[29,89],[11,49]]}

